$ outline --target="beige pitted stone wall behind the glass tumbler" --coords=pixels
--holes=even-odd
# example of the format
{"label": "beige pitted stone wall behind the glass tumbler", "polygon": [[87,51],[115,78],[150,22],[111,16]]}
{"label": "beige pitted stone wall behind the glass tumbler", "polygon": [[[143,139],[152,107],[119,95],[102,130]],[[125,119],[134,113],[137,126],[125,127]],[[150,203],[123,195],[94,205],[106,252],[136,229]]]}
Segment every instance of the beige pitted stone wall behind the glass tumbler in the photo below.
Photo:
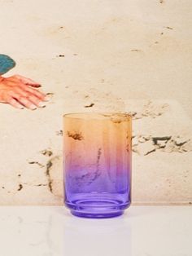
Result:
{"label": "beige pitted stone wall behind the glass tumbler", "polygon": [[191,204],[191,10],[184,0],[1,1],[1,53],[17,62],[7,76],[53,95],[36,111],[0,104],[0,205],[63,203],[62,115],[76,111],[133,114],[134,204]]}

